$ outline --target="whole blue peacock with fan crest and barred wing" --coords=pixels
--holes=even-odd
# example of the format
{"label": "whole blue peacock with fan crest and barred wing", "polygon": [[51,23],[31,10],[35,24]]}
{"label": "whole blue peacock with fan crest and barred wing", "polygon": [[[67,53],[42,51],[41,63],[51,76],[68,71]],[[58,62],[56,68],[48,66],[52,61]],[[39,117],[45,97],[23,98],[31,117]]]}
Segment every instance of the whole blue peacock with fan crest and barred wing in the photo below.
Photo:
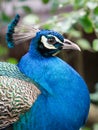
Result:
{"label": "whole blue peacock with fan crest and barred wing", "polygon": [[62,49],[79,50],[53,30],[23,25],[17,14],[8,25],[9,48],[31,40],[17,65],[0,62],[0,129],[79,130],[90,107],[83,78],[56,57]]}

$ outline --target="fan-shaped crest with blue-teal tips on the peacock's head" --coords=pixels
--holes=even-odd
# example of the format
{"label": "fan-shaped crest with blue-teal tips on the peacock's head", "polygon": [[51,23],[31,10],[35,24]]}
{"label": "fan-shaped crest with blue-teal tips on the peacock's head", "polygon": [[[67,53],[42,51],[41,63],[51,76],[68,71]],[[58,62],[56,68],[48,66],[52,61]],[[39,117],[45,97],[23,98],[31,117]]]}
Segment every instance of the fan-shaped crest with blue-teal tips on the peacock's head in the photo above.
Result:
{"label": "fan-shaped crest with blue-teal tips on the peacock's head", "polygon": [[20,16],[17,14],[8,25],[6,41],[9,48],[12,48],[19,43],[32,39],[36,36],[36,33],[40,31],[39,29],[30,25],[21,25],[19,21]]}

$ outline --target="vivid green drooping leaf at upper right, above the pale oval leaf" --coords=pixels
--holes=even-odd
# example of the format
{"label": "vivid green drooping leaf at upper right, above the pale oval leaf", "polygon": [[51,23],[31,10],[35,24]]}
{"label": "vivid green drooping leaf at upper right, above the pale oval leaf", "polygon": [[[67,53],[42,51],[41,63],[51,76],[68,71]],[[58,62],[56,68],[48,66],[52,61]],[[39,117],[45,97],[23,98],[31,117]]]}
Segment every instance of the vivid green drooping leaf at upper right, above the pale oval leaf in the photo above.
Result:
{"label": "vivid green drooping leaf at upper right, above the pale oval leaf", "polygon": [[85,15],[84,17],[79,19],[80,25],[83,27],[84,31],[86,33],[92,33],[93,32],[93,24],[91,19]]}

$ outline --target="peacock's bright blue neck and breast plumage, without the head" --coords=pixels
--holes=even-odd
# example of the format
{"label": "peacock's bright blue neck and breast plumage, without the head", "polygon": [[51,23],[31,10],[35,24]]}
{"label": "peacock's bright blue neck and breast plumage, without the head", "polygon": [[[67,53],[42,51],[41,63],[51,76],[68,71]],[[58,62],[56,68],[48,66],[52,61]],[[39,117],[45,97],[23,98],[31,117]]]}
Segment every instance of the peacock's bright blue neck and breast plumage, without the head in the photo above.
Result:
{"label": "peacock's bright blue neck and breast plumage, without the head", "polygon": [[18,67],[42,91],[32,108],[14,124],[15,130],[79,130],[87,118],[89,92],[80,75],[57,57],[45,58],[31,41]]}

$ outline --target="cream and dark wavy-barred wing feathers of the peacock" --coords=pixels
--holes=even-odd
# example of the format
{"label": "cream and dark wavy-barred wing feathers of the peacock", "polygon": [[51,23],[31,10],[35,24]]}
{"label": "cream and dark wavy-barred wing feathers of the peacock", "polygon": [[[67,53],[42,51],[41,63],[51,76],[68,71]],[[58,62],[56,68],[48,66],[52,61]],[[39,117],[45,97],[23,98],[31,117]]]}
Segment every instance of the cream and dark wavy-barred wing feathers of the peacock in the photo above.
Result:
{"label": "cream and dark wavy-barred wing feathers of the peacock", "polygon": [[40,91],[29,82],[0,76],[0,129],[19,119],[35,102]]}

